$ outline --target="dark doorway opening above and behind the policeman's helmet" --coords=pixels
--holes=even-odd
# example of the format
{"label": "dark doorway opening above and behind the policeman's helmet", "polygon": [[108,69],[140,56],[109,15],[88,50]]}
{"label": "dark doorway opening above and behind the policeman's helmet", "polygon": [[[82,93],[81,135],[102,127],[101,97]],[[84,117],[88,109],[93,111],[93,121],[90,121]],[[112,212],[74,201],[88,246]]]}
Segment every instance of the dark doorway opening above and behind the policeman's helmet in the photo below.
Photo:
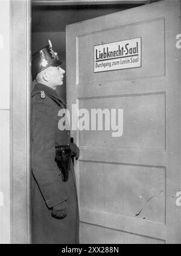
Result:
{"label": "dark doorway opening above and behind the policeman's helmet", "polygon": [[[52,47],[63,61],[62,68],[66,70],[66,25],[93,19],[99,16],[115,13],[145,4],[42,4],[41,1],[32,1],[31,8],[31,53],[52,42]],[[65,2],[65,1],[63,1]],[[121,1],[120,1],[121,2]],[[139,2],[139,1],[138,1]],[[141,2],[141,1],[140,1]],[[34,84],[33,84],[34,86]],[[64,84],[59,87],[59,94],[66,100],[66,77]]]}

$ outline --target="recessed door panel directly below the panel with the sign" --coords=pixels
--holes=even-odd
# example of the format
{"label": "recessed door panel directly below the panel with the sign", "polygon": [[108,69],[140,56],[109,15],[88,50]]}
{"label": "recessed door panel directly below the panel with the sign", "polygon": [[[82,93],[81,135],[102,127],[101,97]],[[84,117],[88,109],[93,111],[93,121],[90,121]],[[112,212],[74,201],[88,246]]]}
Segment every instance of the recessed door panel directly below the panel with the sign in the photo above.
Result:
{"label": "recessed door panel directly below the panel with the sign", "polygon": [[[91,109],[97,110],[99,108],[124,110],[124,136],[112,137],[112,130],[83,130],[79,133],[80,146],[165,149],[164,93],[87,97],[79,100],[79,108],[86,108],[90,114]],[[91,122],[89,126],[91,127]]]}

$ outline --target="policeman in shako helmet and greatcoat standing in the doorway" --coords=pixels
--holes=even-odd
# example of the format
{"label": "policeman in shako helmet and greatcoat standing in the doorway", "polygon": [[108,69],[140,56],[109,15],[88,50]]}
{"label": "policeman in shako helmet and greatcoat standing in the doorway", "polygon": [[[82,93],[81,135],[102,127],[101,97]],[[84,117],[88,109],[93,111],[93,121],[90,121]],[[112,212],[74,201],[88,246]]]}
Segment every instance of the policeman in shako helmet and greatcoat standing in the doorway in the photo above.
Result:
{"label": "policeman in shako helmet and greatcoat standing in the doorway", "polygon": [[[60,131],[59,110],[66,107],[56,88],[63,84],[62,61],[51,41],[33,55],[31,73],[32,243],[78,243],[78,201],[68,130]],[[63,117],[62,117],[63,118]],[[67,119],[65,119],[66,122]]]}

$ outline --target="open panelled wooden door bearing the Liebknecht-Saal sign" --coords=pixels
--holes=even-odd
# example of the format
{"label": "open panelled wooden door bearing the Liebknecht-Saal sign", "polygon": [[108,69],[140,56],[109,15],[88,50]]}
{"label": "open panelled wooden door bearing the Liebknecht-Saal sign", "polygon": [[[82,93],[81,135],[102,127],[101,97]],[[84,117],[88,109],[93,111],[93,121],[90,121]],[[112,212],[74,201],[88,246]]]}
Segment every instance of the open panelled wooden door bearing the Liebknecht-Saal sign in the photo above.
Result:
{"label": "open panelled wooden door bearing the Liebknecht-Saal sign", "polygon": [[[113,137],[111,130],[72,131],[80,147],[75,172],[81,243],[180,243],[178,33],[179,1],[66,28],[69,110],[77,104],[77,114],[82,108],[123,111],[122,136]],[[105,56],[107,61],[119,56],[116,67],[95,66],[106,63],[103,48],[118,45],[125,53],[129,48],[130,57],[112,50]],[[132,54],[137,63],[127,63]]]}

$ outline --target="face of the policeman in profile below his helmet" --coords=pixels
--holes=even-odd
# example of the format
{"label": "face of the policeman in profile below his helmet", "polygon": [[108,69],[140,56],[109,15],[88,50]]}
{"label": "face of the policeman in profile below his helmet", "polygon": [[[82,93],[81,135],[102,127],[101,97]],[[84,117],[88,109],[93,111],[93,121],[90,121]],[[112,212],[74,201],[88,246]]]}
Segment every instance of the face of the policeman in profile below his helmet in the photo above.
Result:
{"label": "face of the policeman in profile below his helmet", "polygon": [[65,70],[60,66],[47,68],[46,74],[48,76],[48,83],[51,84],[52,87],[63,85],[63,74],[65,74]]}

